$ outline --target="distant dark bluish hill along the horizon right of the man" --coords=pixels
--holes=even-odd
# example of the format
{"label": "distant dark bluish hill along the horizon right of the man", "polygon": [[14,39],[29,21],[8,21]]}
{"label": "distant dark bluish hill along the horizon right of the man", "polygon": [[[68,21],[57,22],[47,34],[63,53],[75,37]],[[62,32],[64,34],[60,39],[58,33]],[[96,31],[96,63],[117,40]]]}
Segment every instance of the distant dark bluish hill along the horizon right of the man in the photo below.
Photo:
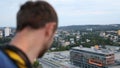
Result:
{"label": "distant dark bluish hill along the horizon right of the man", "polygon": [[88,31],[92,29],[93,31],[108,31],[108,30],[120,30],[120,24],[111,25],[72,25],[59,27],[58,30],[80,30]]}

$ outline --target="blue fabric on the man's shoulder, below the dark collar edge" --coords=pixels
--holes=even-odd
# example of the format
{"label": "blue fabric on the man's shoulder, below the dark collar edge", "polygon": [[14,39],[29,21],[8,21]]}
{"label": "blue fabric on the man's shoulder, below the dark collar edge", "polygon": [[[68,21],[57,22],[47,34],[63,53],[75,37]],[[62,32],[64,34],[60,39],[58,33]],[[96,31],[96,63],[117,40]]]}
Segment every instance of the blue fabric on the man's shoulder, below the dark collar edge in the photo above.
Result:
{"label": "blue fabric on the man's shoulder, below the dark collar edge", "polygon": [[15,64],[0,50],[0,68],[17,68]]}

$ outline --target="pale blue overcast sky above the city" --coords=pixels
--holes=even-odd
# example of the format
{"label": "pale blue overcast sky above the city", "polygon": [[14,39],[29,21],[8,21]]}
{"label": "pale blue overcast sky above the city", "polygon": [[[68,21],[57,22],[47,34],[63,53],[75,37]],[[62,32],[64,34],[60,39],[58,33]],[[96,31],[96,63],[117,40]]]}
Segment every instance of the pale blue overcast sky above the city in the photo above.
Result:
{"label": "pale blue overcast sky above the city", "polygon": [[[16,13],[27,0],[1,0],[0,26],[16,26]],[[59,26],[120,24],[120,0],[46,0],[57,11]]]}

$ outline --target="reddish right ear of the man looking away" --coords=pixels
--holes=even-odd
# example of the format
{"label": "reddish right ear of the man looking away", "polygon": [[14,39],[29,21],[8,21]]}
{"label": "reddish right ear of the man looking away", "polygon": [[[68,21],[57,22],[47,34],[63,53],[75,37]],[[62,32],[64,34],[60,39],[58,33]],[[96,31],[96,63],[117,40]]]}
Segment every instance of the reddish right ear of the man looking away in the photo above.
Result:
{"label": "reddish right ear of the man looking away", "polygon": [[45,25],[45,36],[48,38],[48,40],[54,36],[55,27],[56,27],[55,22],[47,23]]}

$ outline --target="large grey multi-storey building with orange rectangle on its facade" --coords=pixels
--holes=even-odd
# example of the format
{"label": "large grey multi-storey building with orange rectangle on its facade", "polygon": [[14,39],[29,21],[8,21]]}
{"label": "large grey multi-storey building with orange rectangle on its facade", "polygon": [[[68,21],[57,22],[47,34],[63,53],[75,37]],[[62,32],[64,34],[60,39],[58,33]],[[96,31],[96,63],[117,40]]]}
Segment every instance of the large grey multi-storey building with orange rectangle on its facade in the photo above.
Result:
{"label": "large grey multi-storey building with orange rectangle on its facade", "polygon": [[75,47],[70,50],[70,61],[81,68],[110,68],[115,58],[106,49]]}

